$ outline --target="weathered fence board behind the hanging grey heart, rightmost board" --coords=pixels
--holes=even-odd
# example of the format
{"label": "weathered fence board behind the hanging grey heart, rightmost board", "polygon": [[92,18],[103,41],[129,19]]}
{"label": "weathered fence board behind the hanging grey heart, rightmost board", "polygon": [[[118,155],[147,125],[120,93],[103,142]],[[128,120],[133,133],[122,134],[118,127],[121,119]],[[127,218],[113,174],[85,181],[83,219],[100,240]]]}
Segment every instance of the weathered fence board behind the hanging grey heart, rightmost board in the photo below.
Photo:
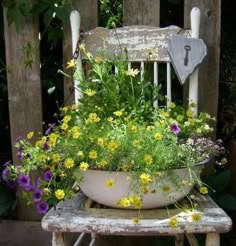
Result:
{"label": "weathered fence board behind the hanging grey heart, rightmost board", "polygon": [[204,40],[208,50],[207,57],[199,67],[199,111],[207,111],[217,117],[221,0],[185,0],[185,28],[190,28],[190,11],[193,7],[201,10],[199,37]]}

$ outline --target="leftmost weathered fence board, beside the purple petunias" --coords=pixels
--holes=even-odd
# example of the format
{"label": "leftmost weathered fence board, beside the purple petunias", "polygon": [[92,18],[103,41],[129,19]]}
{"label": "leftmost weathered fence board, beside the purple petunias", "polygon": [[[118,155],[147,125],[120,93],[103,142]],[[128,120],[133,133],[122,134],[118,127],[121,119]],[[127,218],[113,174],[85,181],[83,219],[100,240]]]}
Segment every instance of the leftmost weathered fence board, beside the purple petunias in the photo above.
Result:
{"label": "leftmost weathered fence board, beside the purple petunias", "polygon": [[[29,131],[34,131],[36,134],[42,131],[38,19],[37,17],[22,18],[22,22],[21,30],[17,33],[15,26],[8,26],[6,11],[4,11],[9,118],[15,164],[17,164],[14,147],[16,137],[25,137]],[[24,47],[27,44],[32,47],[31,68],[24,64],[26,59]],[[26,204],[20,199],[18,217],[22,220],[33,220],[35,211],[25,207]],[[36,217],[38,218],[37,215]]]}

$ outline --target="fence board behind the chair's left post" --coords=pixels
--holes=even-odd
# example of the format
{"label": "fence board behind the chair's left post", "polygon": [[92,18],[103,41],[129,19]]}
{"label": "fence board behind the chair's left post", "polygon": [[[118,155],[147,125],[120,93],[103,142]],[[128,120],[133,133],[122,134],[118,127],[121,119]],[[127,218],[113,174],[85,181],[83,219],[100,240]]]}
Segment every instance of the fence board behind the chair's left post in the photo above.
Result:
{"label": "fence board behind the chair's left post", "polygon": [[[98,5],[97,0],[73,0],[72,7],[80,12],[81,15],[81,30],[88,31],[98,25]],[[70,6],[71,7],[71,6]],[[63,63],[66,68],[66,63],[72,58],[71,45],[71,30],[68,23],[63,27]],[[72,74],[70,74],[72,76]],[[64,101],[66,104],[71,104],[74,101],[73,79],[64,77]]]}

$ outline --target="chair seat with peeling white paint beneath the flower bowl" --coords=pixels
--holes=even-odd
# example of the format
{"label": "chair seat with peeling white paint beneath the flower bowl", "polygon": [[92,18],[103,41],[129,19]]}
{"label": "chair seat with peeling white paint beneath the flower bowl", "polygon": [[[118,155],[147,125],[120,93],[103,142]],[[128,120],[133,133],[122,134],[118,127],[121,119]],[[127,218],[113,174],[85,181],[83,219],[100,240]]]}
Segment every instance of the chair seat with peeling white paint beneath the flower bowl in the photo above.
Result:
{"label": "chair seat with peeling white paint beneath the flower bowl", "polygon": [[53,232],[86,232],[113,235],[176,235],[183,233],[223,233],[231,229],[232,222],[226,213],[208,196],[193,193],[199,203],[201,220],[191,221],[191,212],[170,209],[171,216],[177,216],[179,226],[171,228],[166,209],[141,211],[140,224],[132,218],[136,210],[110,208],[75,208],[74,200],[60,203],[57,210],[50,210],[42,220],[44,230]]}

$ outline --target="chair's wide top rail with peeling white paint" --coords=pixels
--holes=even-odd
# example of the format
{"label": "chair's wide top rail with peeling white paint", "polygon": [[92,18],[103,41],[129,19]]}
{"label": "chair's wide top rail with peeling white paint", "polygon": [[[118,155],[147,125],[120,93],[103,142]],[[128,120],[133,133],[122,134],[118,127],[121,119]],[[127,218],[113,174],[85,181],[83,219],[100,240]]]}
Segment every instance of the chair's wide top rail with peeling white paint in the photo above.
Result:
{"label": "chair's wide top rail with peeling white paint", "polygon": [[83,35],[81,43],[86,50],[97,56],[102,50],[106,56],[120,55],[128,51],[129,61],[169,62],[167,52],[169,39],[181,32],[189,36],[189,31],[181,31],[179,27],[156,28],[152,26],[126,26],[117,29],[96,28]]}

